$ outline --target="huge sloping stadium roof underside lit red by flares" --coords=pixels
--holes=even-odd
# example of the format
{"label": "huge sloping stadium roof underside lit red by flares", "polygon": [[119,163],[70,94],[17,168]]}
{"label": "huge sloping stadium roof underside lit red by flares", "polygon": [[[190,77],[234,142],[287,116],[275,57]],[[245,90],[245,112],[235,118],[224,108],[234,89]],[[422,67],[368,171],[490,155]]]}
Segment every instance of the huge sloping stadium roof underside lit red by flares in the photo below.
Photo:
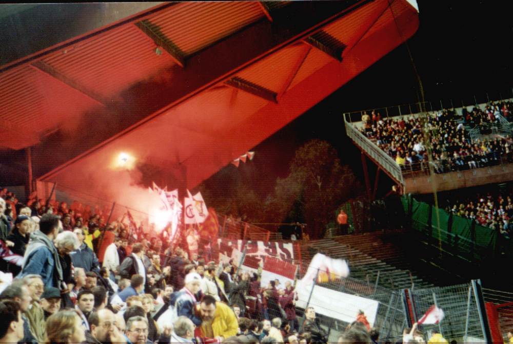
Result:
{"label": "huge sloping stadium roof underside lit red by flares", "polygon": [[[88,149],[41,180],[89,187],[83,172],[124,151],[192,188],[418,25],[406,0],[166,3],[0,67],[2,145],[50,159],[45,135],[75,130]],[[101,142],[77,130],[84,118]]]}

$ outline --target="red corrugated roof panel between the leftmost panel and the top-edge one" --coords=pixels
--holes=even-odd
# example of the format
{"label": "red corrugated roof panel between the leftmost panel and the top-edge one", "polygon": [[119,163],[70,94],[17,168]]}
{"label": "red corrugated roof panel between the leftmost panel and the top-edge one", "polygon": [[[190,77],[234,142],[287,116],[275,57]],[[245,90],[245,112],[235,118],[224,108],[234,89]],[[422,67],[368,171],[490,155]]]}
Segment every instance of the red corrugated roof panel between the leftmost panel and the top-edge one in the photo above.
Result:
{"label": "red corrugated roof panel between the leftmost panel and the top-edge one", "polygon": [[134,25],[54,53],[44,62],[106,98],[173,65],[167,53],[155,54],[154,42]]}

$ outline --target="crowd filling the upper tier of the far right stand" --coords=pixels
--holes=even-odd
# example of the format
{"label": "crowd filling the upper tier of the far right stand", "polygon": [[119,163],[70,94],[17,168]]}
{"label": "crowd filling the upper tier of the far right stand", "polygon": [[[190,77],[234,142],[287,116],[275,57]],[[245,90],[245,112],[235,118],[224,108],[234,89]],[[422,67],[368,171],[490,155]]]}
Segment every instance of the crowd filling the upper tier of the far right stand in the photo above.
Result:
{"label": "crowd filling the upper tier of the far right stand", "polygon": [[376,142],[403,169],[419,170],[429,166],[427,144],[431,149],[432,168],[436,173],[479,168],[513,162],[512,141],[506,137],[484,137],[472,140],[465,124],[479,127],[487,134],[490,124],[500,116],[509,119],[513,103],[490,103],[482,110],[463,108],[461,116],[454,110],[428,113],[422,117],[382,118],[379,112],[362,115],[360,131]]}

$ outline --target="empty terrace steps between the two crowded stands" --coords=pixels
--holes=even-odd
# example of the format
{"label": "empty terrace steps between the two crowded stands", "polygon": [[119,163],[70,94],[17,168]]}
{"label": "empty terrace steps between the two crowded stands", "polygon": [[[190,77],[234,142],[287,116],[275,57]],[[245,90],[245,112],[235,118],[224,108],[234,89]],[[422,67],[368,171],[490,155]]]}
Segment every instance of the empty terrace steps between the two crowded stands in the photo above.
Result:
{"label": "empty terrace steps between the two crowded stands", "polygon": [[424,245],[407,231],[340,235],[303,242],[301,256],[309,261],[317,252],[348,261],[350,276],[388,289],[427,288],[462,282],[459,276],[430,263]]}

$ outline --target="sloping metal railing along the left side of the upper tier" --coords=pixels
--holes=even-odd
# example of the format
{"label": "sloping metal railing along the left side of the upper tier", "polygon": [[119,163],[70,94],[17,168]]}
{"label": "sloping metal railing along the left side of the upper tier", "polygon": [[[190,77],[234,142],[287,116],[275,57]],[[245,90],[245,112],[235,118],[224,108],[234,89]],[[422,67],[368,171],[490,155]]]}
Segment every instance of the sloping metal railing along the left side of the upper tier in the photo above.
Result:
{"label": "sloping metal railing along the left side of the upper tier", "polygon": [[347,136],[351,140],[354,141],[358,146],[360,146],[367,155],[374,159],[377,163],[379,163],[384,169],[393,176],[394,179],[397,180],[398,183],[404,184],[403,174],[401,172],[401,167],[396,163],[395,160],[392,159],[388,154],[383,152],[378,146],[376,146],[372,141],[365,137],[360,131],[353,126],[352,123],[347,121],[347,118],[344,114],[344,122],[346,126]]}

